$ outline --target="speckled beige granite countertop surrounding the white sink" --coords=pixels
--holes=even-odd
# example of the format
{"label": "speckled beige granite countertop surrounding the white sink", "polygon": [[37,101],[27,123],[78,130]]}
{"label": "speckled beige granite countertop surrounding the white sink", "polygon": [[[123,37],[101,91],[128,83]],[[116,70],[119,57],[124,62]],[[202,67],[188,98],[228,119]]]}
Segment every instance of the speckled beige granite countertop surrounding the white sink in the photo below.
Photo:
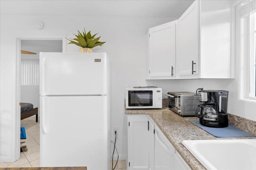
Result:
{"label": "speckled beige granite countertop surrounding the white sink", "polygon": [[182,145],[181,142],[184,140],[256,139],[256,137],[214,137],[187,120],[198,119],[197,117],[182,117],[168,107],[162,109],[125,109],[125,114],[149,115],[192,170],[205,170],[206,168]]}

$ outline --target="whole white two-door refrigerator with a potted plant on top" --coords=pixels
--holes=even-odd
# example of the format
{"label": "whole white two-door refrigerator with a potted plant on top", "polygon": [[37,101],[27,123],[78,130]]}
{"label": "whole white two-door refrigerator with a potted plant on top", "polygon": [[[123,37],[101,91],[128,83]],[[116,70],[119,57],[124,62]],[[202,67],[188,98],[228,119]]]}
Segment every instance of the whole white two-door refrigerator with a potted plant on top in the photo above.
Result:
{"label": "whole white two-door refrigerator with a potted plant on top", "polygon": [[40,53],[40,166],[109,170],[106,53]]}

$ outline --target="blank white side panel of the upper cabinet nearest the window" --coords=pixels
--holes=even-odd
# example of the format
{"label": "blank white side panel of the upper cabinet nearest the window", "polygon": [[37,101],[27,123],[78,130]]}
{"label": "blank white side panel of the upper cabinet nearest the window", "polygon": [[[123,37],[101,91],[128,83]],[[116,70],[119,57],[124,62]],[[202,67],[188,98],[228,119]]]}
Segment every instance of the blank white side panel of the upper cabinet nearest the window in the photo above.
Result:
{"label": "blank white side panel of the upper cabinet nearest the window", "polygon": [[234,78],[231,2],[200,1],[200,78]]}

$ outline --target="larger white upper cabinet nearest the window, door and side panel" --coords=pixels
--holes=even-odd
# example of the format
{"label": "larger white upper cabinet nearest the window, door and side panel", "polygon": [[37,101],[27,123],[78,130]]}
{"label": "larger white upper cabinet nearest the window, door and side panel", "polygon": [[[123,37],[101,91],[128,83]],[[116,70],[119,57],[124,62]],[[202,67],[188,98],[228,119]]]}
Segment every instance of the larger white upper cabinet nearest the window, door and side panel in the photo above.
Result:
{"label": "larger white upper cabinet nearest the window, door and side panel", "polygon": [[180,78],[234,78],[230,0],[195,0],[178,19]]}

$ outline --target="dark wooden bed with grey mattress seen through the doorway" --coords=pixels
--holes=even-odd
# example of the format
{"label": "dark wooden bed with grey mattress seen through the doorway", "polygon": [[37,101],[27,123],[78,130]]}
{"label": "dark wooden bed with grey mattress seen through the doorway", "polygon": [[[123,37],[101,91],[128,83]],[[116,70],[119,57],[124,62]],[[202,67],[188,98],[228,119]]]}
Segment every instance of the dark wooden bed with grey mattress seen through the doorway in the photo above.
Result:
{"label": "dark wooden bed with grey mattress seen through the doorway", "polygon": [[21,103],[20,120],[26,119],[32,115],[36,115],[36,122],[38,122],[38,107],[34,108],[31,103]]}

